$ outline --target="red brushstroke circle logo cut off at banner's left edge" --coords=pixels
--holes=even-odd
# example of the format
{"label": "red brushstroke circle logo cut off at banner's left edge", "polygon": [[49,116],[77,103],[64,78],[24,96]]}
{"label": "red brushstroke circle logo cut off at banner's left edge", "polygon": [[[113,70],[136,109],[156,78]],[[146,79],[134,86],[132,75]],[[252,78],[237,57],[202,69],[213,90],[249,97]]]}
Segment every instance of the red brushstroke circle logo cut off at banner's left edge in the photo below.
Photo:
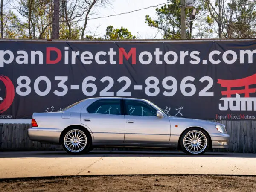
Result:
{"label": "red brushstroke circle logo cut off at banner's left edge", "polygon": [[3,82],[6,88],[6,93],[4,96],[3,94],[1,94],[3,93],[3,90],[0,89],[0,113],[3,113],[12,105],[15,92],[11,79],[6,76],[0,75],[0,81]]}

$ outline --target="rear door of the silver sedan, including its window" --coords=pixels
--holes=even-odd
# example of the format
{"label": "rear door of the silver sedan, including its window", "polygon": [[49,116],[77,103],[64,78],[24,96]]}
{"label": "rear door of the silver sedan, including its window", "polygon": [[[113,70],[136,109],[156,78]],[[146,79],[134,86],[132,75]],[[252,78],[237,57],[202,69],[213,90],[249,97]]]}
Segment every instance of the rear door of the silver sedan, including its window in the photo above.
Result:
{"label": "rear door of the silver sedan, including its window", "polygon": [[93,132],[95,143],[123,143],[125,116],[121,99],[100,99],[81,111],[81,122]]}

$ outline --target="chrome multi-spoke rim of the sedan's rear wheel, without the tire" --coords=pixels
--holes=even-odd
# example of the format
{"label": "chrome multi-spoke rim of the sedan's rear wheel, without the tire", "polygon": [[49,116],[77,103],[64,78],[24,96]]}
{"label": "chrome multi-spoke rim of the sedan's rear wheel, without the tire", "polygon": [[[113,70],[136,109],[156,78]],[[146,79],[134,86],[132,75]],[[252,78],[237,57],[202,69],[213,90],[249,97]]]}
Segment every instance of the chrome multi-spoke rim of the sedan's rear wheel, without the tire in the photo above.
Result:
{"label": "chrome multi-spoke rim of the sedan's rear wheel, without the tire", "polygon": [[72,152],[79,153],[87,146],[87,136],[84,131],[72,129],[64,137],[64,147]]}

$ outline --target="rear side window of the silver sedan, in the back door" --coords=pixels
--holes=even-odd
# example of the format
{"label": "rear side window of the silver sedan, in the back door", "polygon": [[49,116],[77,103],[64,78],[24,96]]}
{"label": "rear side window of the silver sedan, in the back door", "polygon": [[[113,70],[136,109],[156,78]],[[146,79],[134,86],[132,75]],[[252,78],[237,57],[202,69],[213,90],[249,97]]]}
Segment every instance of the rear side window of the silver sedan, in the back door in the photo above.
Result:
{"label": "rear side window of the silver sedan, in the back door", "polygon": [[119,99],[98,100],[87,108],[88,113],[121,115],[121,101]]}

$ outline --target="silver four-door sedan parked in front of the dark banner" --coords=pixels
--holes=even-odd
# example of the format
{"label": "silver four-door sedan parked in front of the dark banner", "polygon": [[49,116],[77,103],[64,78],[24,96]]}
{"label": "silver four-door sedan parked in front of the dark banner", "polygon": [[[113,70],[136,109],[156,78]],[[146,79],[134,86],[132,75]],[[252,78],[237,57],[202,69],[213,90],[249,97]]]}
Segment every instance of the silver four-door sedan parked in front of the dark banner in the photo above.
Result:
{"label": "silver four-door sedan parked in front of the dark banner", "polygon": [[167,147],[188,154],[228,148],[225,125],[170,116],[144,99],[90,98],[59,112],[33,113],[31,140],[61,144],[69,154],[95,147]]}

